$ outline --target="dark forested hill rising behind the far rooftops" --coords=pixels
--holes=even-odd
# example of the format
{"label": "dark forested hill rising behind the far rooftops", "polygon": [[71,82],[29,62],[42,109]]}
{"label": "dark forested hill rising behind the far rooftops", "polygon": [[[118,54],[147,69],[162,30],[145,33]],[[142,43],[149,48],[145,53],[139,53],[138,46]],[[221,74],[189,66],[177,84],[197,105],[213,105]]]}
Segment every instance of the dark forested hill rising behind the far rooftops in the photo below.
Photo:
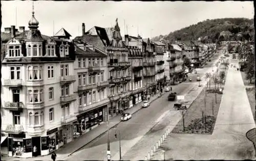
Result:
{"label": "dark forested hill rising behind the far rooftops", "polygon": [[[185,40],[206,40],[207,42],[217,42],[222,31],[230,31],[234,38],[239,39],[236,35],[240,33],[243,39],[250,37],[254,40],[254,21],[248,18],[218,18],[207,19],[198,24],[190,25],[186,28],[170,32],[168,35],[159,35],[153,37],[152,41],[159,41],[161,38],[173,43],[177,38]],[[248,36],[249,35],[249,36]],[[240,38],[241,38],[240,37]]]}

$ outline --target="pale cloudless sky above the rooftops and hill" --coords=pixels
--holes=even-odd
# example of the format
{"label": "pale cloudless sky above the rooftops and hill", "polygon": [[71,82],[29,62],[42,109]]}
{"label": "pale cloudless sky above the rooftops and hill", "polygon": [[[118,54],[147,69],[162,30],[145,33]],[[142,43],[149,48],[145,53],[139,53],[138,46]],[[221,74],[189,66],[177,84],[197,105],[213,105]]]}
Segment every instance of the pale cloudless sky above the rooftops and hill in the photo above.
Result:
{"label": "pale cloudless sky above the rooftops and hill", "polygon": [[[32,1],[1,1],[2,28],[25,26],[32,17]],[[72,39],[93,26],[113,27],[118,18],[121,35],[143,38],[167,35],[206,19],[254,17],[253,2],[136,2],[136,1],[35,1],[35,18],[42,34],[53,36],[61,28]],[[125,25],[124,25],[125,23]],[[17,28],[16,27],[16,28]]]}

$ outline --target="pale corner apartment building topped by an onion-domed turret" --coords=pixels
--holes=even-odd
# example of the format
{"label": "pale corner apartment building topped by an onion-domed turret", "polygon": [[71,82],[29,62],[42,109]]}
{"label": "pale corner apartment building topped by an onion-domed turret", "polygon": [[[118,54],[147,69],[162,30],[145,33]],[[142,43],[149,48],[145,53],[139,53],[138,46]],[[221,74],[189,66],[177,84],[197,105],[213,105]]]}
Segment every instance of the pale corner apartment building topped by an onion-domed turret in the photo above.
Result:
{"label": "pale corner apartment building topped by an onion-domed turret", "polygon": [[9,156],[47,155],[73,140],[74,47],[67,32],[49,37],[38,25],[33,11],[29,30],[11,26],[1,34],[2,134]]}

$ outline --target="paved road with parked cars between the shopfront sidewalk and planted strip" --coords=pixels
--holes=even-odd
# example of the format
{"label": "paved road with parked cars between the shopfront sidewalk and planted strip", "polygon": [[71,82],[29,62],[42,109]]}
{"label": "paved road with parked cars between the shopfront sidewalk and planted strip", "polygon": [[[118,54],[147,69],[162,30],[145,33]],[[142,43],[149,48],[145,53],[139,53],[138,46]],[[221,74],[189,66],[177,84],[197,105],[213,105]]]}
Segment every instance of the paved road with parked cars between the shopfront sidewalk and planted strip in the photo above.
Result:
{"label": "paved road with parked cars between the shopfront sidewalk and planted strip", "polygon": [[[210,63],[213,64],[214,61]],[[200,68],[198,70],[201,73],[200,76],[203,76],[205,75],[205,72],[209,70],[209,67]],[[184,95],[193,86],[197,85],[197,76],[197,74],[190,74],[189,77],[193,79],[193,82],[186,81],[179,85],[172,86],[173,91],[176,91],[177,95]],[[143,108],[139,112],[135,113],[131,120],[122,122],[117,125],[116,128],[110,130],[110,149],[112,159],[119,159],[119,141],[114,138],[116,130],[121,131],[121,151],[122,155],[124,155],[164,116],[167,110],[173,110],[175,102],[167,101],[167,95],[168,93],[165,93],[161,98],[153,102],[150,107]],[[77,158],[80,158],[86,160],[106,160],[107,139],[108,134],[104,134],[66,159],[77,160]]]}

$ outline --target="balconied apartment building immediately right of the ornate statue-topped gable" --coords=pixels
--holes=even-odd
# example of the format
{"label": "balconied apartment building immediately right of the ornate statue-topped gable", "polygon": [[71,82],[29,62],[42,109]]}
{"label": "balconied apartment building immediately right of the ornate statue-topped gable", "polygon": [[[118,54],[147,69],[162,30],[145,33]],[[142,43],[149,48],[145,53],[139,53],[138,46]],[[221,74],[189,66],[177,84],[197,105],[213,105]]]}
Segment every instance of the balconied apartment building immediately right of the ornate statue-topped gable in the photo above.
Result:
{"label": "balconied apartment building immediately right of the ornate statue-topped gable", "polygon": [[124,35],[125,47],[129,50],[128,60],[131,62],[129,73],[132,74],[132,80],[129,83],[129,90],[132,92],[129,101],[129,107],[138,104],[144,97],[143,86],[143,54],[142,54],[142,38]]}

